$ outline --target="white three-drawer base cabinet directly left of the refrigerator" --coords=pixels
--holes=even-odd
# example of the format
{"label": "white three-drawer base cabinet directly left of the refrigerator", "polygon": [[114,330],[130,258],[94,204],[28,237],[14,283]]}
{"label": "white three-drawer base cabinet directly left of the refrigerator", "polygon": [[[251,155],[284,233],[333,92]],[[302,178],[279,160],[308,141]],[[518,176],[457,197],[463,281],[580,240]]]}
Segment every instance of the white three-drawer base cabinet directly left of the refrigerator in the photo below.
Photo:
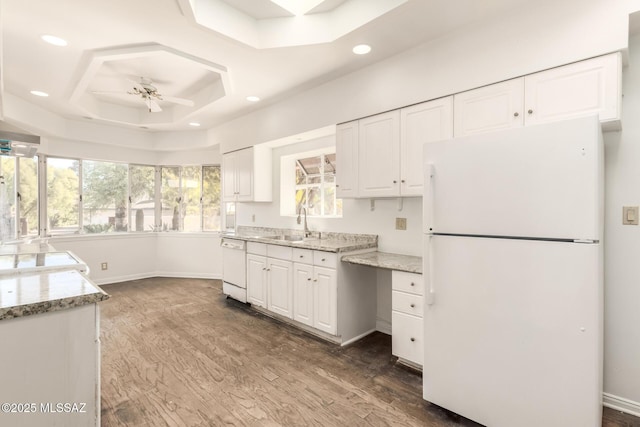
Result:
{"label": "white three-drawer base cabinet directly left of the refrigerator", "polygon": [[424,360],[424,284],[421,274],[393,271],[391,276],[391,348],[401,361]]}

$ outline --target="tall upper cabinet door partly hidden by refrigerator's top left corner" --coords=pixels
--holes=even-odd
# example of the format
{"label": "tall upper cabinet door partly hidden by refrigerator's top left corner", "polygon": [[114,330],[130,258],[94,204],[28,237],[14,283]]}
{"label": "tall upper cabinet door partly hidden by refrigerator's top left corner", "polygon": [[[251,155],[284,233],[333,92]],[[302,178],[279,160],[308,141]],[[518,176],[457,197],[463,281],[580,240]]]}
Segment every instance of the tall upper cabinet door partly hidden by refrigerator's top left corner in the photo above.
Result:
{"label": "tall upper cabinet door partly hidden by refrigerator's top left corner", "polygon": [[422,196],[424,144],[452,137],[452,96],[400,110],[400,195]]}

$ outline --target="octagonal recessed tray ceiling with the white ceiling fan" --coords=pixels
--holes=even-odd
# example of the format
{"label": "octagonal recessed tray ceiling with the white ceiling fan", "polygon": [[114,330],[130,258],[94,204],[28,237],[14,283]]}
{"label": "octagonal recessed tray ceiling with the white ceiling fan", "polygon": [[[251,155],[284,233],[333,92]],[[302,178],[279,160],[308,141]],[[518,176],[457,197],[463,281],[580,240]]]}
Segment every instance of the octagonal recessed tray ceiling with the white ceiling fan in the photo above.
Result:
{"label": "octagonal recessed tray ceiling with the white ceiling fan", "polygon": [[141,127],[188,118],[229,92],[224,66],[156,43],[90,51],[78,76],[70,102],[87,117]]}

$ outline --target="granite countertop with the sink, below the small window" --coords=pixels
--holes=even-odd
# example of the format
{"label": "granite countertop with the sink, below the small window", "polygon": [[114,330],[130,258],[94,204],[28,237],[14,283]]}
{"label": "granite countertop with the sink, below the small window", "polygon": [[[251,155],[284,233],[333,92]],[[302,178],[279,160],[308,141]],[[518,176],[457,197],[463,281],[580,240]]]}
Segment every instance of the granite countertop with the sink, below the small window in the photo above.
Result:
{"label": "granite countertop with the sink, below the small window", "polygon": [[294,236],[302,238],[300,230],[267,227],[238,227],[235,233],[222,233],[223,238],[244,240],[246,242],[266,243],[269,245],[289,246],[324,252],[352,252],[378,247],[378,236],[374,234],[312,232],[303,240],[279,240],[274,237]]}

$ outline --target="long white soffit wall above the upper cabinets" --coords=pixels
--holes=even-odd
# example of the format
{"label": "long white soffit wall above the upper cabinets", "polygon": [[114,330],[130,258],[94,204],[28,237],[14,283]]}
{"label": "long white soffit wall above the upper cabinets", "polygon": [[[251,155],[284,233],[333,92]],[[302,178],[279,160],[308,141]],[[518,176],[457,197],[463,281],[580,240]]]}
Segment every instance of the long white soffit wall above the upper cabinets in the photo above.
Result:
{"label": "long white soffit wall above the upper cabinets", "polygon": [[623,50],[626,2],[532,1],[209,131],[222,152]]}

